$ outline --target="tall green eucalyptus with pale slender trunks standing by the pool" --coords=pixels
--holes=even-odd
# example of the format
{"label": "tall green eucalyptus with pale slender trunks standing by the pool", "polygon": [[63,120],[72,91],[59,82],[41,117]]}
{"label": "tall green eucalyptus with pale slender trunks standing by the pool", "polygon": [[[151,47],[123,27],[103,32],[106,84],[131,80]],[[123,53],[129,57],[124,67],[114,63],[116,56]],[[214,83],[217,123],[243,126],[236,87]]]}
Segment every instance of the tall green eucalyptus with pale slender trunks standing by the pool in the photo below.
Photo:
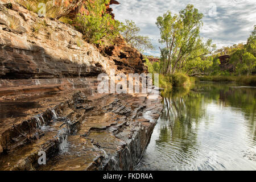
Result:
{"label": "tall green eucalyptus with pale slender trunks standing by the pool", "polygon": [[[200,37],[203,14],[193,5],[187,5],[179,14],[170,11],[159,16],[156,25],[160,30],[160,40],[168,50],[164,73],[192,72],[211,64],[209,54],[215,46],[211,40],[206,43]],[[160,51],[163,50],[160,48]]]}

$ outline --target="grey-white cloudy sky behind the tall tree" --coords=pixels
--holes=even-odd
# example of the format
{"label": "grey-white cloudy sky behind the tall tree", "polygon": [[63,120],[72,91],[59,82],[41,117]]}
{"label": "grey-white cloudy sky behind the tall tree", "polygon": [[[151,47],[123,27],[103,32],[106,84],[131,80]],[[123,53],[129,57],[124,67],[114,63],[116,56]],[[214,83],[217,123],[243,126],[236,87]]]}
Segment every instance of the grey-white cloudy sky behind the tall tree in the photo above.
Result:
{"label": "grey-white cloudy sky behind the tall tree", "polygon": [[[170,10],[179,13],[187,4],[194,5],[204,14],[201,36],[212,39],[217,48],[246,42],[256,24],[255,0],[118,0],[112,5],[115,19],[133,20],[141,28],[141,35],[149,36],[156,48],[160,46],[156,18]],[[145,51],[159,56],[159,50]]]}

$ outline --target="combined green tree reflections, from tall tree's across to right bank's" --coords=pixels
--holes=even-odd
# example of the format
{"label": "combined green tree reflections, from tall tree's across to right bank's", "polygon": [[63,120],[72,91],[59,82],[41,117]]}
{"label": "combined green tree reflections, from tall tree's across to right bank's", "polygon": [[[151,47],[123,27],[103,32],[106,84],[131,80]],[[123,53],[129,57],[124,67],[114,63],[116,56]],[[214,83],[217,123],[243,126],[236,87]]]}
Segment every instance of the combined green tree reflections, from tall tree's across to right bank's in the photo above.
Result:
{"label": "combined green tree reflections, from tall tree's across to right bank's", "polygon": [[[159,138],[156,140],[158,150],[164,150],[167,144],[171,146],[171,150],[177,150],[172,151],[174,154],[182,152],[189,158],[196,158],[195,151],[199,150],[197,145],[199,124],[204,121],[207,126],[209,122],[213,122],[208,119],[206,113],[207,106],[212,103],[241,111],[246,120],[248,134],[253,134],[249,137],[256,140],[256,89],[230,86],[234,84],[207,83],[196,85],[191,90],[164,91],[161,119],[168,122],[160,128]],[[183,158],[183,162],[186,161],[187,159]]]}

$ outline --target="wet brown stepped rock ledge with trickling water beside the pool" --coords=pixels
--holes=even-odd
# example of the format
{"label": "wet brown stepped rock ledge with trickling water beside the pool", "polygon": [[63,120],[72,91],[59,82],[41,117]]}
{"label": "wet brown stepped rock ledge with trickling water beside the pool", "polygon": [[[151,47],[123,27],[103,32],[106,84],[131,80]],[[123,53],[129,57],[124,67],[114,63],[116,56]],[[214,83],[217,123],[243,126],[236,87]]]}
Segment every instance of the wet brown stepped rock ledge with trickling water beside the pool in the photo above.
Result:
{"label": "wet brown stepped rock ledge with trickling water beside the pool", "polygon": [[[70,98],[65,100],[67,97]],[[147,97],[86,97],[79,91],[65,93],[59,101],[44,98],[44,104],[60,104],[1,131],[0,169],[132,170],[141,159],[162,111],[160,97]],[[46,166],[38,164],[39,151],[47,154]]]}

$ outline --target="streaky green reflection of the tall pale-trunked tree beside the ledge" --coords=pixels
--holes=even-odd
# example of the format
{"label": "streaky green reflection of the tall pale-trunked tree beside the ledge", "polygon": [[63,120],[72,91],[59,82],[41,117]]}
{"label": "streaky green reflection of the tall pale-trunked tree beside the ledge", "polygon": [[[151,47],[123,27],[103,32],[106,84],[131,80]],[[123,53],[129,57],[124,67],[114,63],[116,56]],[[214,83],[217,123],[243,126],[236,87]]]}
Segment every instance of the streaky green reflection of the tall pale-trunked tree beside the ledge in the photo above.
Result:
{"label": "streaky green reflection of the tall pale-trunked tree beside the ledge", "polygon": [[163,144],[174,148],[179,146],[176,153],[188,154],[189,158],[194,158],[193,152],[198,150],[198,124],[200,118],[205,116],[203,100],[204,97],[200,93],[189,92],[189,89],[164,92],[161,119],[168,123],[160,128],[156,146],[160,149],[163,148]]}

